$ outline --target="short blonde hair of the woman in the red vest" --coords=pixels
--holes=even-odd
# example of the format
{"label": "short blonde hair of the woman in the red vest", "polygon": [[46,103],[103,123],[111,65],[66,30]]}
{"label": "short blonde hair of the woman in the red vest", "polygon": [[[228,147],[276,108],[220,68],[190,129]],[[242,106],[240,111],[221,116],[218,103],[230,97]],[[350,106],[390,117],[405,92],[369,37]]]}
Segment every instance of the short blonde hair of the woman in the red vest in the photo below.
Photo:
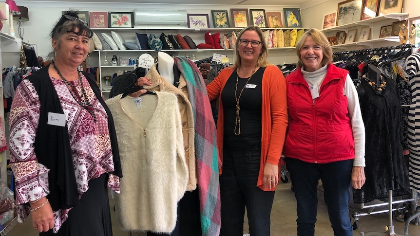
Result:
{"label": "short blonde hair of the woman in the red vest", "polygon": [[299,57],[297,66],[304,67],[304,63],[302,62],[302,58],[301,58],[301,50],[302,50],[302,47],[304,46],[305,39],[308,36],[312,37],[312,40],[314,40],[316,44],[322,47],[322,53],[323,53],[323,58],[321,61],[322,66],[325,66],[331,63],[332,62],[332,48],[331,48],[331,45],[329,45],[328,39],[326,38],[324,33],[322,33],[321,31],[317,29],[309,29],[308,31],[305,32],[305,34],[299,39],[298,43],[296,44],[296,54]]}

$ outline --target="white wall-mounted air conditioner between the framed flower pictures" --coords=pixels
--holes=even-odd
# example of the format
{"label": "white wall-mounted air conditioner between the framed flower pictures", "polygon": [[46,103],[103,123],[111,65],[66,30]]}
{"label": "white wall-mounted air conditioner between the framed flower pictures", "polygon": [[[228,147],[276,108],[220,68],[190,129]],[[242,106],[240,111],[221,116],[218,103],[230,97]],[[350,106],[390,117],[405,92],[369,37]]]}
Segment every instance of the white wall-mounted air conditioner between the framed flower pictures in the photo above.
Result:
{"label": "white wall-mounted air conditioner between the framed flower pictures", "polygon": [[135,10],[136,25],[187,25],[187,11],[183,10]]}

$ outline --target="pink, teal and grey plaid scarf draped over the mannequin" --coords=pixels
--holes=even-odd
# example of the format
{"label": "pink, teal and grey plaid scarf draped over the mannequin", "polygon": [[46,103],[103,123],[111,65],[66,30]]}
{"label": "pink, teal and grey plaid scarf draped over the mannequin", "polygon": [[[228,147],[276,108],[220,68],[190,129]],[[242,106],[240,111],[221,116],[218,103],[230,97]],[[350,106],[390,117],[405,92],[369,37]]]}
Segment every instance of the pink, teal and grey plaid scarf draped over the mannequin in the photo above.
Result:
{"label": "pink, teal and grey plaid scarf draped over the mannequin", "polygon": [[220,233],[219,156],[216,147],[216,126],[206,85],[197,66],[190,59],[176,56],[174,63],[187,81],[188,97],[194,117],[194,147],[202,234],[218,236]]}

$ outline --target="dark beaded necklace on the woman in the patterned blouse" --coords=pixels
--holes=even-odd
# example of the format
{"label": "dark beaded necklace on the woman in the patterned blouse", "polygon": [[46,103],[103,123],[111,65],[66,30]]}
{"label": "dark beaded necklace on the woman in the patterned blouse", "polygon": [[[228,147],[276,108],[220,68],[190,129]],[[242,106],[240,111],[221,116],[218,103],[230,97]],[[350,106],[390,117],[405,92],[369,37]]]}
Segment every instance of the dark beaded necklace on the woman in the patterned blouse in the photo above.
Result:
{"label": "dark beaded necklace on the woman in the patterned blouse", "polygon": [[80,84],[80,87],[81,87],[82,97],[80,97],[75,86],[72,85],[66,78],[64,78],[64,76],[58,70],[54,60],[51,61],[51,64],[53,65],[54,69],[57,71],[61,80],[66,84],[67,89],[69,90],[70,94],[72,94],[72,97],[75,99],[77,104],[79,104],[80,107],[86,109],[89,112],[89,114],[91,114],[92,118],[94,118],[94,122],[96,123],[97,118],[95,114],[95,109],[93,108],[92,104],[89,102],[88,95],[86,94],[85,87],[83,86],[82,73],[80,72],[80,70],[77,69],[77,73],[79,74],[78,83]]}

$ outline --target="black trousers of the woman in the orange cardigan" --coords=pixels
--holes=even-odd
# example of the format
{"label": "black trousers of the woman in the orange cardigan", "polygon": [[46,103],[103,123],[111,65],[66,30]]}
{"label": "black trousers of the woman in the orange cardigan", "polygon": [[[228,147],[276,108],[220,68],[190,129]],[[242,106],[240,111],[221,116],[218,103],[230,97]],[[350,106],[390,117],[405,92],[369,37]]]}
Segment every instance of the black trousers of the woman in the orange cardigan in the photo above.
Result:
{"label": "black trousers of the woman in the orange cardigan", "polygon": [[220,236],[243,236],[245,207],[251,236],[270,235],[274,191],[257,187],[261,151],[223,152]]}

